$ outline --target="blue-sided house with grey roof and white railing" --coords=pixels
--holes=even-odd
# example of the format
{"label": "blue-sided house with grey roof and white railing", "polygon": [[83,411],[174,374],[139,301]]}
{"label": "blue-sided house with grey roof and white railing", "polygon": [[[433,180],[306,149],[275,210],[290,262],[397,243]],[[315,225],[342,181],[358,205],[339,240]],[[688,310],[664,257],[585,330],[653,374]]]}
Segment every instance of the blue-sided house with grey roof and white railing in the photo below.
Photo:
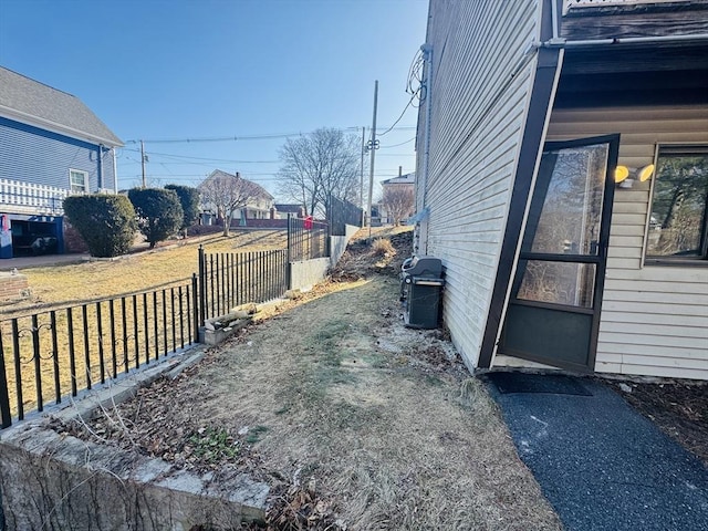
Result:
{"label": "blue-sided house with grey roof and white railing", "polygon": [[0,66],[0,258],[63,252],[63,199],[115,192],[122,145],[77,97]]}

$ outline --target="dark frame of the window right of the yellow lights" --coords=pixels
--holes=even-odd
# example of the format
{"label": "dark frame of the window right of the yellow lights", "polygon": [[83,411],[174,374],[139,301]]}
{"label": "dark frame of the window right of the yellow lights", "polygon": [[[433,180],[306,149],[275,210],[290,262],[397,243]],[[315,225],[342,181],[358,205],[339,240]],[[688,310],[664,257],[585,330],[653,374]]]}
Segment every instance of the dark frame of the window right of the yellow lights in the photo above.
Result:
{"label": "dark frame of the window right of the yellow lights", "polygon": [[649,236],[652,230],[652,215],[656,195],[656,179],[662,156],[701,156],[708,155],[708,144],[659,144],[656,148],[655,165],[656,170],[653,176],[652,195],[649,197],[649,209],[647,212],[647,222],[644,241],[644,264],[645,266],[673,266],[673,267],[708,267],[708,189],[704,197],[704,216],[701,220],[699,253],[696,256],[679,254],[650,254],[649,253]]}

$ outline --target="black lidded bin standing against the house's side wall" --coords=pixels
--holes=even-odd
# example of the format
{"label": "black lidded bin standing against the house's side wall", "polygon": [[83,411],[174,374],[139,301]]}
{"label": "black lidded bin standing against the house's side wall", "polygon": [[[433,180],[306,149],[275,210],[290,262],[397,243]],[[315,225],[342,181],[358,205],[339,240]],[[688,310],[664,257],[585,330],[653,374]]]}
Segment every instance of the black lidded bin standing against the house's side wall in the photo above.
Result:
{"label": "black lidded bin standing against the house's side wall", "polygon": [[436,329],[440,293],[445,280],[442,262],[434,257],[414,257],[404,261],[400,271],[400,299],[404,321],[412,329]]}

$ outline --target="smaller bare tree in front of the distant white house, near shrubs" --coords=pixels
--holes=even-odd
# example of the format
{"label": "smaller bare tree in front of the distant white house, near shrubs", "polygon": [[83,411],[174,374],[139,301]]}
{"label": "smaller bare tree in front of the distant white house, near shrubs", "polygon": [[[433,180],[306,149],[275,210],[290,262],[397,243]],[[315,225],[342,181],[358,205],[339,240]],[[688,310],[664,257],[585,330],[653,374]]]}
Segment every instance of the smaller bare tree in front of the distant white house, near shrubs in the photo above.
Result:
{"label": "smaller bare tree in front of the distant white house, near shrubs", "polygon": [[269,197],[263,187],[241,178],[239,173],[231,175],[220,169],[211,171],[198,189],[202,206],[215,209],[223,220],[223,236],[229,236],[236,212],[253,200]]}

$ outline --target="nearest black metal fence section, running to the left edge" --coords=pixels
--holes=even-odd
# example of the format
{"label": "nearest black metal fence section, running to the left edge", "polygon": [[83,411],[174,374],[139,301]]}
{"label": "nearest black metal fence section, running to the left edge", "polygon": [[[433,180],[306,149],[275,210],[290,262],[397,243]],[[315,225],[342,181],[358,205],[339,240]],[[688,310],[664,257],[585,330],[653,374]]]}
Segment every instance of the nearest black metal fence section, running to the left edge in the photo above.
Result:
{"label": "nearest black metal fence section, running to the left edge", "polygon": [[196,284],[0,321],[0,427],[196,343]]}

